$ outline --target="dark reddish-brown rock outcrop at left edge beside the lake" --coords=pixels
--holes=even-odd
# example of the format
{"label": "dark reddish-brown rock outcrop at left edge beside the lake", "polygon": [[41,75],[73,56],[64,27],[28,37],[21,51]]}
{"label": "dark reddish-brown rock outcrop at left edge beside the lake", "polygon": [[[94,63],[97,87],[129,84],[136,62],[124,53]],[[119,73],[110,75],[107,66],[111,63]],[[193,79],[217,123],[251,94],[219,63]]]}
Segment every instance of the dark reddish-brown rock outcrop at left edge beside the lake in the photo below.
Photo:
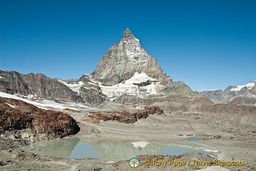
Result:
{"label": "dark reddish-brown rock outcrop at left edge beside the lake", "polygon": [[43,110],[16,99],[0,98],[0,133],[49,140],[78,133],[76,121],[62,112]]}

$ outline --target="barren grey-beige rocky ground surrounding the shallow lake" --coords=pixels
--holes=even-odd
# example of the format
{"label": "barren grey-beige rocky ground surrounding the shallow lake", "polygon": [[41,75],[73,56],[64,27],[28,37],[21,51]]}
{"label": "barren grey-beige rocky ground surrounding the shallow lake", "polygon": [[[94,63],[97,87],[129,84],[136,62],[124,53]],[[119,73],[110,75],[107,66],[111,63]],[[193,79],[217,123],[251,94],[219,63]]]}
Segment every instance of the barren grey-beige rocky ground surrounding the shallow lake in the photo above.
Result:
{"label": "barren grey-beige rocky ground surrounding the shallow lake", "polygon": [[[256,129],[250,125],[238,124],[225,118],[213,117],[207,114],[165,112],[161,115],[149,115],[140,118],[136,122],[126,124],[118,120],[106,120],[102,118],[104,111],[73,112],[63,110],[78,121],[81,128],[75,137],[79,137],[79,143],[83,141],[97,145],[101,138],[113,138],[124,140],[158,142],[163,146],[176,148],[206,150],[213,153],[208,155],[200,153],[187,153],[181,156],[145,155],[137,157],[140,166],[136,170],[197,170],[197,169],[228,169],[228,170],[255,170],[256,169]],[[110,110],[111,111],[111,110]],[[132,110],[135,112],[136,110]],[[108,111],[109,112],[109,111]],[[112,111],[114,113],[114,110]],[[89,114],[91,113],[91,114]],[[97,114],[88,122],[89,115]],[[197,141],[187,141],[189,137],[199,137]],[[83,139],[84,138],[84,139]],[[97,141],[98,139],[98,141]],[[76,160],[53,159],[39,154],[39,151],[31,150],[31,142],[19,138],[1,138],[0,170],[132,170],[127,160]],[[152,146],[153,147],[153,146]],[[105,147],[106,151],[111,150]],[[143,152],[143,150],[142,150]],[[217,155],[217,158],[215,158]],[[146,166],[145,160],[242,160],[244,166]]]}

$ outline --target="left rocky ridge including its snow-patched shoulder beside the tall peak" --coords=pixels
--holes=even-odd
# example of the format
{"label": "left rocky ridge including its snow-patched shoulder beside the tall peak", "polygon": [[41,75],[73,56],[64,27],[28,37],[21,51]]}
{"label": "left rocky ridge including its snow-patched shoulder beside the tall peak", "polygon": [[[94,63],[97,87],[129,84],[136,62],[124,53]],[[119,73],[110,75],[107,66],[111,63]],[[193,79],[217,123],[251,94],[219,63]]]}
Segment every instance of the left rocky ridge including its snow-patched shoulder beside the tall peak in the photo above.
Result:
{"label": "left rocky ridge including its snow-patched shoulder beside the tall peak", "polygon": [[42,73],[23,75],[0,70],[0,92],[23,98],[48,99],[52,101],[100,104],[107,100],[101,89],[86,78],[60,80]]}

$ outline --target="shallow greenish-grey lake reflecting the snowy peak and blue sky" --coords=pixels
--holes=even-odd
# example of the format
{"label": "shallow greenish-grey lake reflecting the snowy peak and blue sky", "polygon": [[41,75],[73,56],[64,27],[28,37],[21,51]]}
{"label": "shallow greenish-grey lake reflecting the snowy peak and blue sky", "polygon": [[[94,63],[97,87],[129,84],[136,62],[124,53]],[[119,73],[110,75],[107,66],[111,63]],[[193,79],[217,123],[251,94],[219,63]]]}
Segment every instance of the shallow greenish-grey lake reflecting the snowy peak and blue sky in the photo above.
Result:
{"label": "shallow greenish-grey lake reflecting the snowy peak and blue sky", "polygon": [[127,160],[139,154],[180,154],[207,151],[172,147],[157,141],[120,140],[115,138],[62,138],[34,143],[31,148],[43,156],[55,159]]}

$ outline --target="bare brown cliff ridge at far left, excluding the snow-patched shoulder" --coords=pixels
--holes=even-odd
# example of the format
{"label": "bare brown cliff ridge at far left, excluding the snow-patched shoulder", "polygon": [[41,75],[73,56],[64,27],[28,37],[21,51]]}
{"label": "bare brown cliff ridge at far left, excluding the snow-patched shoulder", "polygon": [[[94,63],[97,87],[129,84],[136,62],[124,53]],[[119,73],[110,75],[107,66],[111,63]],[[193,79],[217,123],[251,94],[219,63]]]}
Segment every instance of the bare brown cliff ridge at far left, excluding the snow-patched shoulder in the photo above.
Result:
{"label": "bare brown cliff ridge at far left, excluding the snow-patched shoulder", "polygon": [[0,92],[36,95],[45,99],[60,99],[66,102],[84,102],[77,93],[42,73],[23,75],[18,72],[0,70]]}

